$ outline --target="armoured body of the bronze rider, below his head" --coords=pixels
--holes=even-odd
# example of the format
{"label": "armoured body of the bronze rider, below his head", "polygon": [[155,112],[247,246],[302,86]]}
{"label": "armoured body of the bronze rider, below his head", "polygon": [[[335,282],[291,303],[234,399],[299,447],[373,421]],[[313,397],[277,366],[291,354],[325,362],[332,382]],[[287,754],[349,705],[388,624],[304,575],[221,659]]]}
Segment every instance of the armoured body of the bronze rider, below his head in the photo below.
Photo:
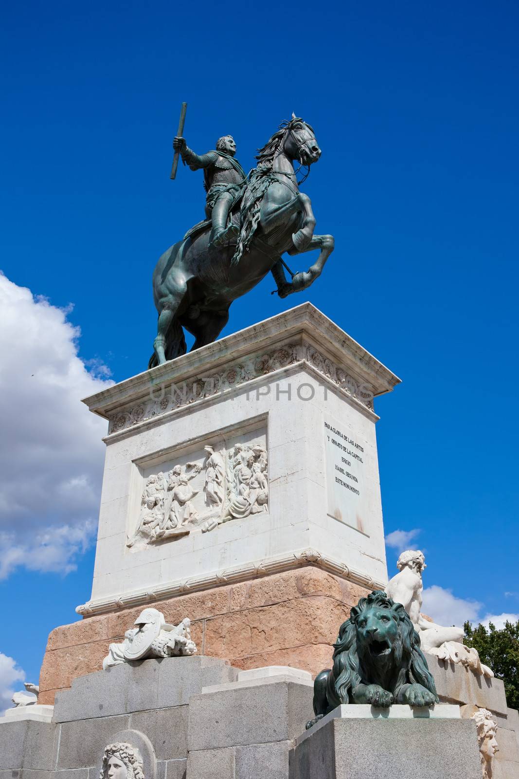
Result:
{"label": "armoured body of the bronze rider, below his head", "polygon": [[231,208],[240,199],[245,184],[245,172],[238,160],[221,151],[208,151],[196,154],[188,146],[181,152],[182,160],[191,171],[204,171],[205,215],[212,219],[212,231],[209,242],[222,245],[232,237],[234,228],[229,230],[227,217]]}

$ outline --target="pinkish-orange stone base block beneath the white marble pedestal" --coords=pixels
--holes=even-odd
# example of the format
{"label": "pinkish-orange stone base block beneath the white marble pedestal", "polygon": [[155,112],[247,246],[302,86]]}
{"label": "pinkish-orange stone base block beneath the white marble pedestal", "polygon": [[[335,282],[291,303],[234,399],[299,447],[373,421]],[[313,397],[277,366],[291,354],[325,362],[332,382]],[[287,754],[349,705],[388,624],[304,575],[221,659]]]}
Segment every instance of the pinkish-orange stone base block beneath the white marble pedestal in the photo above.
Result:
{"label": "pinkish-orange stone base block beneath the white marble pedestal", "polygon": [[[364,587],[306,566],[261,579],[153,601],[167,622],[189,617],[198,654],[229,660],[237,668],[291,665],[316,675],[329,668],[332,644]],[[100,671],[108,644],[121,641],[142,607],[89,616],[55,628],[40,672],[39,703],[72,679]]]}

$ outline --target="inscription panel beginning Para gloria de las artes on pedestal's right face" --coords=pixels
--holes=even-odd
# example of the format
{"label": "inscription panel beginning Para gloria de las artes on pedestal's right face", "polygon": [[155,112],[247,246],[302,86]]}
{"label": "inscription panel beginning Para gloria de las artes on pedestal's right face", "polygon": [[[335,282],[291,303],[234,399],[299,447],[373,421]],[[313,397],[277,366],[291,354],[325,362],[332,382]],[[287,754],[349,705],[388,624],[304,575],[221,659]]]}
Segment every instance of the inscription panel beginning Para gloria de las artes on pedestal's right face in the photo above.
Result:
{"label": "inscription panel beginning Para gloria de las artes on pedestal's right face", "polygon": [[324,449],[328,516],[365,533],[364,447],[341,429],[338,421],[325,414]]}

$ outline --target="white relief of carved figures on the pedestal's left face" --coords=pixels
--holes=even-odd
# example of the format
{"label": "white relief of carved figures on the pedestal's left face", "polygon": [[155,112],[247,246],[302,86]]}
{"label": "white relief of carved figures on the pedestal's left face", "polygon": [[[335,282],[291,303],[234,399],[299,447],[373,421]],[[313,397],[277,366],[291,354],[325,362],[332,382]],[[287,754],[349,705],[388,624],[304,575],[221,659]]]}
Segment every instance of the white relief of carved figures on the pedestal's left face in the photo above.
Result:
{"label": "white relief of carved figures on the pedestal's left face", "polygon": [[[194,480],[197,488],[191,483]],[[208,445],[202,461],[177,464],[167,474],[149,475],[142,491],[139,523],[127,546],[143,548],[180,538],[191,530],[207,532],[228,520],[267,511],[265,447],[259,442],[237,443],[215,451]]]}

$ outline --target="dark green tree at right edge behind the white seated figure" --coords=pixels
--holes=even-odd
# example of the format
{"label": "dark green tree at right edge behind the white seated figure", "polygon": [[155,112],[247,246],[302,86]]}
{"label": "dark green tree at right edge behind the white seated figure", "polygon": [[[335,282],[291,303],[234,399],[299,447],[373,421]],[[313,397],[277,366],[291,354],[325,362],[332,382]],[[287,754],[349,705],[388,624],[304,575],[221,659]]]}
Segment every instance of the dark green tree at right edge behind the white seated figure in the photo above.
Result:
{"label": "dark green tree at right edge behind the white seated figure", "polygon": [[482,663],[503,679],[508,706],[519,709],[519,620],[507,622],[500,630],[492,622],[488,630],[482,625],[472,627],[470,622],[463,627],[466,646],[475,647]]}

